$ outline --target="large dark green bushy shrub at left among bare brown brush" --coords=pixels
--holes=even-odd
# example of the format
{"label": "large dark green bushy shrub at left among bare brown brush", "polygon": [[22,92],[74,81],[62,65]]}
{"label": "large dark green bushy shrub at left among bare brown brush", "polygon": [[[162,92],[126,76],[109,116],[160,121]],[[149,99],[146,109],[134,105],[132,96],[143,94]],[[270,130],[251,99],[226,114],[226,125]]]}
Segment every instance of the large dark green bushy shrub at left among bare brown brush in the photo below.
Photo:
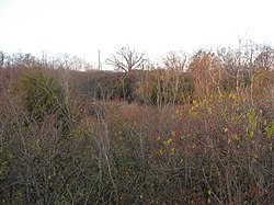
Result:
{"label": "large dark green bushy shrub at left among bare brown brush", "polygon": [[42,68],[33,67],[19,77],[14,94],[22,96],[22,104],[26,109],[25,126],[31,126],[32,122],[43,123],[48,116],[54,116],[58,121],[56,126],[69,129],[71,116],[65,91],[57,79],[44,73]]}

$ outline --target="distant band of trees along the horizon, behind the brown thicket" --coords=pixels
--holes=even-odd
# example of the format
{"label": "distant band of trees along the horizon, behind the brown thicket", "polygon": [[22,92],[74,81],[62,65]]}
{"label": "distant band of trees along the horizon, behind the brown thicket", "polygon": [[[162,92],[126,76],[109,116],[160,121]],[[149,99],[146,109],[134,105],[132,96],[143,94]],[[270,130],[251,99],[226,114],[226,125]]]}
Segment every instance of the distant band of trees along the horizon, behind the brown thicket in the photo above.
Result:
{"label": "distant band of trees along the horizon, behind the brown thicket", "polygon": [[[0,56],[1,72],[10,72],[8,78],[16,72],[11,68],[66,70],[62,76],[72,78],[66,83],[70,83],[72,90],[77,84],[83,95],[93,100],[130,99],[162,106],[189,103],[216,93],[246,92],[250,98],[260,98],[271,91],[273,95],[274,48],[267,45],[247,43],[238,49],[198,50],[192,56],[170,52],[153,64],[144,53],[125,46],[107,58],[106,64],[115,70],[112,72],[96,71],[77,56],[48,57],[44,54],[38,59],[30,54],[7,55],[3,52]],[[7,87],[7,79],[3,79],[7,77],[1,76]]]}

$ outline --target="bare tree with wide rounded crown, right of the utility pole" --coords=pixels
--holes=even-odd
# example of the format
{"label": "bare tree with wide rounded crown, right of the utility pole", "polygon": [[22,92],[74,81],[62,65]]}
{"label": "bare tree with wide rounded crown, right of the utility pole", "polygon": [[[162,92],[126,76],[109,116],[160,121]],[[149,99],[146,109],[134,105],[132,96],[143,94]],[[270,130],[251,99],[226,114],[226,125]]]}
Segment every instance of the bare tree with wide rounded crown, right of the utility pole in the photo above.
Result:
{"label": "bare tree with wide rounded crown, right of the utility pole", "polygon": [[118,70],[132,71],[134,69],[141,68],[147,61],[144,56],[145,53],[139,53],[135,48],[130,48],[126,45],[119,48],[115,55],[107,58],[106,64]]}

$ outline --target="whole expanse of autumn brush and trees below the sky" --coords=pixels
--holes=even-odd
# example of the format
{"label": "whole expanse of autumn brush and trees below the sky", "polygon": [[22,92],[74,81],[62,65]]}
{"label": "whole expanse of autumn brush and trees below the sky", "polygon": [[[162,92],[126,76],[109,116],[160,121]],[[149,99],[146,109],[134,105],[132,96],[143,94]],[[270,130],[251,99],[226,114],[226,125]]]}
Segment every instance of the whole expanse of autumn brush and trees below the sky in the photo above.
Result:
{"label": "whole expanse of autumn brush and trees below the sky", "polygon": [[1,203],[274,201],[271,46],[0,59]]}

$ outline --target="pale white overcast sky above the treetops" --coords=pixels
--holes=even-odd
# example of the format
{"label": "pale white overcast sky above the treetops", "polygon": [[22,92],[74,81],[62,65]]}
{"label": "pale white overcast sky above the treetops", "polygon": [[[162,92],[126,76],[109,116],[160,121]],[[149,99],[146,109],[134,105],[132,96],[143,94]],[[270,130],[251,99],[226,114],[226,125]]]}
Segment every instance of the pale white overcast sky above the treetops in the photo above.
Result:
{"label": "pale white overcast sky above the treetops", "polygon": [[0,0],[0,50],[69,53],[94,62],[132,45],[170,50],[274,43],[273,0]]}

